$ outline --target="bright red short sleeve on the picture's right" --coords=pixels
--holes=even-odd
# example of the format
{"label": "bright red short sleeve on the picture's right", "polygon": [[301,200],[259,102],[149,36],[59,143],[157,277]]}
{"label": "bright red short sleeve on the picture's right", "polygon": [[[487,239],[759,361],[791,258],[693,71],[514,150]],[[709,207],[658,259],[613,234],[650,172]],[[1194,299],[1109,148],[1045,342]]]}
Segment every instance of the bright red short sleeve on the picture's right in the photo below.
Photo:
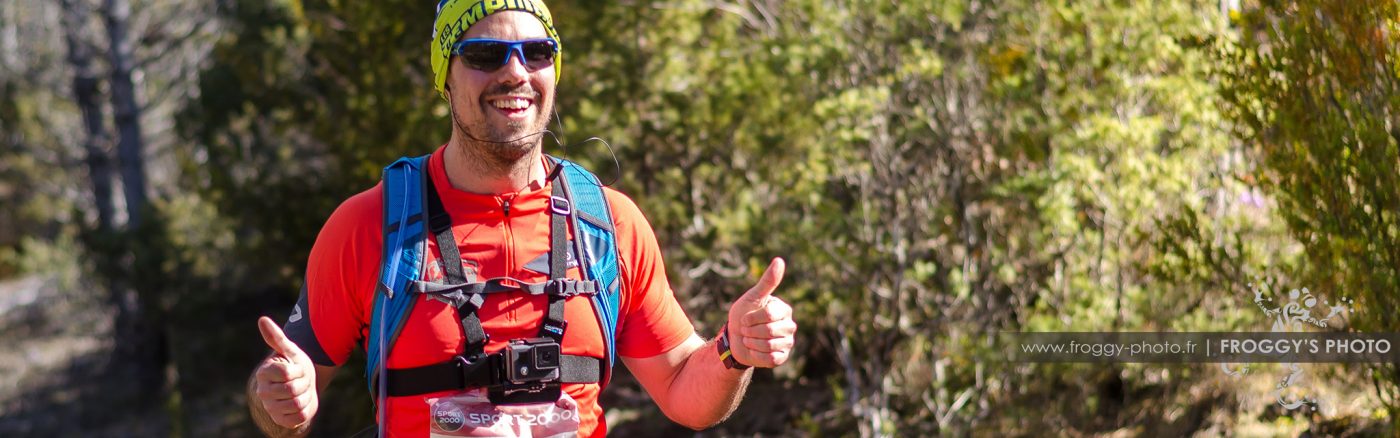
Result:
{"label": "bright red short sleeve on the picture's right", "polygon": [[694,334],[694,325],[666,280],[666,264],[651,224],[626,195],[606,189],[617,231],[623,281],[617,354],[652,357],[671,351]]}

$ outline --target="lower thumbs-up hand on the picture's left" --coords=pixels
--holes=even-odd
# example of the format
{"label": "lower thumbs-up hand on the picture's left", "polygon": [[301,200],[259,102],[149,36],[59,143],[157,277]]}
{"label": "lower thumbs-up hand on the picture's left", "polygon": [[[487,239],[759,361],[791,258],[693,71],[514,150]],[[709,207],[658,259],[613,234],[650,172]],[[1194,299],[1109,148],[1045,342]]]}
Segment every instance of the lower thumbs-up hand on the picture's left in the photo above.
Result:
{"label": "lower thumbs-up hand on the picture's left", "polygon": [[287,339],[277,323],[267,316],[258,319],[263,341],[272,355],[253,371],[256,395],[267,417],[286,428],[298,428],[316,414],[316,367],[311,357]]}

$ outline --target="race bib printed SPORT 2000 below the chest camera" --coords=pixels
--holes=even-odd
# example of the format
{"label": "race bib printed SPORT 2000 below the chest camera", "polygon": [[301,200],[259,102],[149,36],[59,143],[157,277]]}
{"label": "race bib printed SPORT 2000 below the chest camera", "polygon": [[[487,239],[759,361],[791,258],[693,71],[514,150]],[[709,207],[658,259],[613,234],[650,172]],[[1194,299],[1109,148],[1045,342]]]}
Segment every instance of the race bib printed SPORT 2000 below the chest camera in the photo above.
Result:
{"label": "race bib printed SPORT 2000 below the chest camera", "polygon": [[433,438],[578,435],[578,402],[567,392],[554,402],[497,406],[486,389],[470,389],[427,403]]}

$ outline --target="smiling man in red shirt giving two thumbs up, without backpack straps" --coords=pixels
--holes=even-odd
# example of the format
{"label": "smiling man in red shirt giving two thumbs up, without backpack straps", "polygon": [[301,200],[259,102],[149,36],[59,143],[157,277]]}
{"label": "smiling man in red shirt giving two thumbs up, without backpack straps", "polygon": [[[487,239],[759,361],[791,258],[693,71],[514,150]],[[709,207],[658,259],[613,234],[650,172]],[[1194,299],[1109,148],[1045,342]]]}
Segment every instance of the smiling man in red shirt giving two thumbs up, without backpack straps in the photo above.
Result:
{"label": "smiling man in red shirt giving two thumbs up, without backpack straps", "polygon": [[[424,161],[424,172],[428,190],[435,188],[441,209],[451,217],[451,232],[442,242],[456,246],[449,253],[459,257],[444,257],[444,246],[430,235],[423,281],[438,284],[444,271],[472,278],[510,277],[521,284],[554,281],[549,280],[552,269],[542,264],[547,266],[550,259],[546,257],[552,250],[550,211],[557,211],[557,200],[552,200],[557,192],[552,189],[559,183],[552,178],[557,172],[552,171],[559,164],[540,150],[561,59],[560,52],[542,52],[559,50],[553,20],[538,0],[442,0],[434,28],[434,83],[449,104],[452,133]],[[258,322],[273,353],[253,371],[248,396],[256,424],[269,435],[304,435],[316,414],[318,395],[337,367],[356,346],[370,343],[386,245],[385,190],[385,183],[379,183],[356,195],[326,221],[286,332],[267,318]],[[788,360],[797,323],[791,308],[771,295],[783,278],[784,262],[773,259],[757,285],[731,305],[727,330],[706,341],[672,295],[650,224],[624,195],[612,189],[605,193],[616,235],[622,297],[615,334],[617,357],[669,418],[696,430],[711,427],[738,406],[752,374],[749,367],[771,368]],[[575,257],[570,253],[570,278],[580,276]],[[459,259],[461,270],[444,259]],[[533,330],[553,312],[549,301],[553,298],[539,294],[517,290],[483,297],[475,315],[486,334],[487,354],[500,355],[521,346],[521,339],[535,336]],[[413,299],[396,341],[386,348],[384,367],[391,381],[381,388],[403,383],[393,381],[402,381],[398,378],[405,375],[402,369],[461,360],[463,344],[470,344],[469,315],[462,315],[463,308],[426,294]],[[570,325],[561,330],[557,343],[561,350],[556,351],[603,357],[606,347],[598,325],[592,323],[588,298],[560,299]],[[722,339],[727,341],[718,343]],[[473,389],[437,390],[441,388],[434,385],[440,382],[427,383],[433,383],[424,386],[430,393],[379,395],[382,434],[428,437],[430,428],[437,431],[444,418],[461,421],[461,416],[442,416],[437,407],[430,418],[430,404],[458,400],[454,395]],[[557,406],[577,402],[577,434],[603,435],[601,385],[591,381],[556,385],[561,385]],[[496,403],[497,396],[493,392],[490,402]]]}

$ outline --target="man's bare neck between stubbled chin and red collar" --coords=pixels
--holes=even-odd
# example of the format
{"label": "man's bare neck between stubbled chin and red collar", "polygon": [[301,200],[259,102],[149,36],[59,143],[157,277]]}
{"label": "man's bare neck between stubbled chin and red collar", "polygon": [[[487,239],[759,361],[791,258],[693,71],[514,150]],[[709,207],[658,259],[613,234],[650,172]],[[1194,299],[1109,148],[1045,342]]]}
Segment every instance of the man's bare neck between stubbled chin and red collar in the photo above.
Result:
{"label": "man's bare neck between stubbled chin and red collar", "polygon": [[545,186],[545,165],[538,143],[519,157],[490,154],[491,147],[496,146],[476,144],[452,133],[442,161],[447,181],[454,189],[477,195],[508,195]]}

